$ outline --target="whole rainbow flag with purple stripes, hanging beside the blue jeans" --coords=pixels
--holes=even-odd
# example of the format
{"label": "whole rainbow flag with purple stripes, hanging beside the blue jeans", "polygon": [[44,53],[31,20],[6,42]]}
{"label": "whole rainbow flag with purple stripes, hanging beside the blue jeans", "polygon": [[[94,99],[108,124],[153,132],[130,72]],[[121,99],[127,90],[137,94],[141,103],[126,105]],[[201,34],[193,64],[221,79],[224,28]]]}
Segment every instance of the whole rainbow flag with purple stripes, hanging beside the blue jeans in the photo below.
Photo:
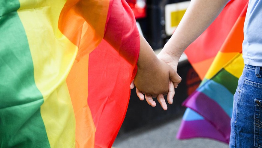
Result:
{"label": "whole rainbow flag with purple stripes, hanging beside the blue jeans", "polygon": [[[187,49],[192,66],[200,77],[205,76],[183,102],[188,108],[178,139],[207,137],[229,143],[233,95],[244,68],[242,42],[247,4],[247,0],[228,2],[212,25]],[[194,57],[195,52],[201,52],[197,55],[202,57]],[[213,54],[216,56],[212,57]]]}

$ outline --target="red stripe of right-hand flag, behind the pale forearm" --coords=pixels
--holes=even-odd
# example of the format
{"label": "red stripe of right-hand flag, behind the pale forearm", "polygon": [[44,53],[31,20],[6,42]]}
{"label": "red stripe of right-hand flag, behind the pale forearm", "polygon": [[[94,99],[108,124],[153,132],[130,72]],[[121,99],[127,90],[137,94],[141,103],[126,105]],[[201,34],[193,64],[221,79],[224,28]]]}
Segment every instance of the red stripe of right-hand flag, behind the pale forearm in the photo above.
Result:
{"label": "red stripe of right-hand flag, behind the pale forearm", "polygon": [[225,6],[208,29],[185,50],[190,63],[197,63],[215,57],[236,20],[243,15],[242,10],[247,2],[247,0],[231,0]]}

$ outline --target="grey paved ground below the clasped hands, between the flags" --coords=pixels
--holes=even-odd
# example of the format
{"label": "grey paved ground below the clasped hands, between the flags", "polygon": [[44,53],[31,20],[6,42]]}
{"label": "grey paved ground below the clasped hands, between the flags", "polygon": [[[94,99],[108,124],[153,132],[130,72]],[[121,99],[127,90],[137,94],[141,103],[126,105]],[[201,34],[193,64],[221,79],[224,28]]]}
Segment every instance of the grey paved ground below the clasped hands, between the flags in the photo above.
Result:
{"label": "grey paved ground below the clasped hands, between the flags", "polygon": [[113,144],[114,148],[227,148],[225,143],[207,138],[177,140],[182,117],[162,123],[155,127],[144,127],[120,134]]}

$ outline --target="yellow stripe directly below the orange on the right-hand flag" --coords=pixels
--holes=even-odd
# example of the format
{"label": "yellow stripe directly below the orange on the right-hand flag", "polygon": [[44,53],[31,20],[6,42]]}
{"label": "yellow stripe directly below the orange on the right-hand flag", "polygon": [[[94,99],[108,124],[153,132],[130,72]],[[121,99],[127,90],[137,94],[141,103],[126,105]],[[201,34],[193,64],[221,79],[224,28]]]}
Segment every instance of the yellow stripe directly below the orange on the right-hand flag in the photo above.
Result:
{"label": "yellow stripe directly below the orange on the right-hand flag", "polygon": [[205,78],[211,79],[215,74],[222,69],[233,57],[235,57],[238,52],[220,52],[216,55],[213,63],[211,64],[210,68],[208,69]]}

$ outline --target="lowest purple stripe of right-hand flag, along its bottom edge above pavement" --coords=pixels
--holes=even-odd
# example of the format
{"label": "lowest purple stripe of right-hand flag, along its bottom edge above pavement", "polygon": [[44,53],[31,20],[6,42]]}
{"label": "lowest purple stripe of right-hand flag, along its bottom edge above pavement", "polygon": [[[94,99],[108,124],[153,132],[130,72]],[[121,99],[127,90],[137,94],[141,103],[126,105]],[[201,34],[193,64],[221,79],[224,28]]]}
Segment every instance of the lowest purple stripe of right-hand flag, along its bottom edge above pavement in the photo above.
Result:
{"label": "lowest purple stripe of right-hand flag, along its bottom edge above pavement", "polygon": [[188,139],[195,137],[204,137],[219,140],[224,143],[229,143],[229,138],[225,139],[213,125],[206,120],[184,121],[180,125],[176,135],[177,139]]}

